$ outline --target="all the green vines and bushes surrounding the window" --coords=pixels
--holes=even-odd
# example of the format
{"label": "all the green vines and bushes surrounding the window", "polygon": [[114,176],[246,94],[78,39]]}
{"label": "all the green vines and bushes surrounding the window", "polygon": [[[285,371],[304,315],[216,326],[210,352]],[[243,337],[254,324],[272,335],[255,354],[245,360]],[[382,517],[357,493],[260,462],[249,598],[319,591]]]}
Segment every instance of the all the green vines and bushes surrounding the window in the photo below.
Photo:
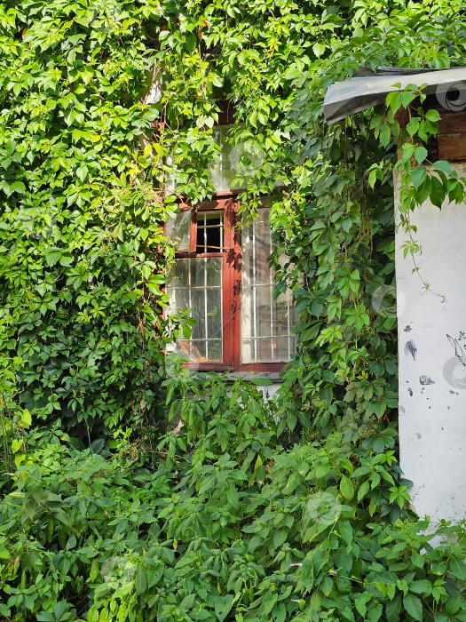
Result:
{"label": "all the green vines and bushes surrounding the window", "polygon": [[[465,619],[464,531],[432,548],[409,507],[395,318],[374,306],[394,279],[393,113],[419,93],[331,128],[320,112],[360,66],[464,64],[464,21],[443,0],[0,4],[5,619]],[[244,210],[273,195],[293,266],[299,347],[270,409],[162,355],[166,181],[212,193],[219,99],[264,156],[253,174],[244,156]],[[444,163],[422,172],[436,118],[411,112],[406,215],[463,196]]]}

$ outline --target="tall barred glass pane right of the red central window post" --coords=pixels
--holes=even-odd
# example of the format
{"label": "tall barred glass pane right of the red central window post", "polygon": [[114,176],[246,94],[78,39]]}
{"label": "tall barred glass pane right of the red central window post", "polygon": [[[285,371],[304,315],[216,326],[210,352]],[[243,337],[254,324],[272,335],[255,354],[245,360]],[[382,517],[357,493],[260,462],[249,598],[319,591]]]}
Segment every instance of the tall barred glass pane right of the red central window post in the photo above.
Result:
{"label": "tall barred glass pane right of the red central window post", "polygon": [[296,350],[295,309],[291,292],[272,291],[275,275],[267,258],[273,245],[269,224],[270,209],[244,227],[241,267],[241,363],[272,363],[291,360]]}

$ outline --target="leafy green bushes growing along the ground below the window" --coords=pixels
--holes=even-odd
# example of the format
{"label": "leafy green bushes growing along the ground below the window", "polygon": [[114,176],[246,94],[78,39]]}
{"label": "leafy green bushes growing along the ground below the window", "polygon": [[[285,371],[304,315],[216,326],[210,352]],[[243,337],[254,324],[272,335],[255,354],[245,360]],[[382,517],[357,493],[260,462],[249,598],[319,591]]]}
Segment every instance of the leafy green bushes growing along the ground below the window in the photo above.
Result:
{"label": "leafy green bushes growing along the ground below the window", "polygon": [[3,482],[5,618],[464,620],[464,530],[442,525],[430,546],[391,427],[351,418],[287,449],[257,389],[182,384],[186,426],[155,472],[140,447],[29,436]]}

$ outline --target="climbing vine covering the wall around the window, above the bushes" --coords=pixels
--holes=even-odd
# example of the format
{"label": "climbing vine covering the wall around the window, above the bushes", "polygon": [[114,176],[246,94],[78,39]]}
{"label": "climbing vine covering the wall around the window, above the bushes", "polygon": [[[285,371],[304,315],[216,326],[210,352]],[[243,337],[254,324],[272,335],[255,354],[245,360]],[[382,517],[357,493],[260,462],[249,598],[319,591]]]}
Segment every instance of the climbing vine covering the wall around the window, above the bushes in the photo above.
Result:
{"label": "climbing vine covering the wall around the window, above the bushes", "polygon": [[[296,90],[330,49],[325,37],[344,40],[354,28],[347,7],[2,6],[6,397],[35,418],[59,414],[92,438],[102,425],[154,420],[160,287],[171,253],[162,223],[176,199],[166,180],[177,179],[178,193],[193,200],[211,194],[207,165],[218,156],[212,126],[222,98],[236,106],[235,140],[264,154],[241,184],[247,209],[274,192],[277,175],[287,184],[272,226],[296,266],[288,278],[302,316],[302,364],[291,380],[302,375],[304,403],[323,426],[345,410],[344,387],[358,376],[367,382],[361,412],[381,417],[393,407],[394,320],[369,307],[393,273],[391,187],[375,194],[352,183],[355,165],[366,170],[382,151],[367,146],[365,120],[351,132],[348,125],[328,134],[322,124],[309,132],[307,93],[318,91]],[[144,105],[154,67],[162,99]],[[141,135],[149,140],[143,152]],[[303,138],[311,149],[304,156],[325,148],[330,159],[296,157]]]}

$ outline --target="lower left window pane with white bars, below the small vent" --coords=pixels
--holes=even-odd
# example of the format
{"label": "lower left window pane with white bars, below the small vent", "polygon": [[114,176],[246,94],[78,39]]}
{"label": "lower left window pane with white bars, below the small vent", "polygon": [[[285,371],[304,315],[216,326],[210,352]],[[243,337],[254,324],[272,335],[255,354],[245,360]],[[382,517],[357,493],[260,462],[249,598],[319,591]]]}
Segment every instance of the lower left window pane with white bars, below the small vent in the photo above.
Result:
{"label": "lower left window pane with white bars, below the small vent", "polygon": [[190,308],[196,320],[191,339],[178,339],[171,350],[197,363],[223,360],[223,258],[177,259],[167,283],[169,314]]}

